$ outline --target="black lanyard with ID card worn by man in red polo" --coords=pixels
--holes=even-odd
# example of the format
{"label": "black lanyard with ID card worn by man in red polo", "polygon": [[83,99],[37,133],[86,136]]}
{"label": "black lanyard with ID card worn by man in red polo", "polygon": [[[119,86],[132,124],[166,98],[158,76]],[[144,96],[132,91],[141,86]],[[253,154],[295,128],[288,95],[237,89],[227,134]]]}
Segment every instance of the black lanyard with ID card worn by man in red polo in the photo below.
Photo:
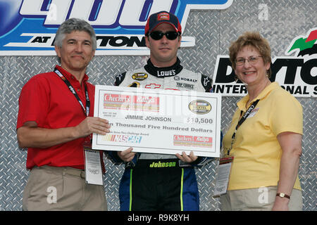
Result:
{"label": "black lanyard with ID card worn by man in red polo", "polygon": [[[89,116],[89,110],[90,110],[90,100],[88,95],[88,89],[87,85],[85,85],[85,97],[86,97],[86,107],[80,100],[80,97],[77,95],[75,89],[73,88],[72,84],[66,79],[66,77],[63,75],[63,73],[58,70],[58,68],[54,69],[54,72],[58,77],[61,77],[63,82],[68,86],[68,89],[71,93],[75,96],[78,103],[82,107],[83,112],[85,113],[85,116]],[[89,136],[90,137],[90,136]],[[91,137],[90,137],[91,140]],[[84,143],[84,157],[85,157],[85,179],[87,184],[97,184],[97,185],[104,185],[103,179],[102,179],[102,169],[101,169],[101,158],[99,154],[99,150],[92,150],[92,142],[89,141],[89,143]]]}

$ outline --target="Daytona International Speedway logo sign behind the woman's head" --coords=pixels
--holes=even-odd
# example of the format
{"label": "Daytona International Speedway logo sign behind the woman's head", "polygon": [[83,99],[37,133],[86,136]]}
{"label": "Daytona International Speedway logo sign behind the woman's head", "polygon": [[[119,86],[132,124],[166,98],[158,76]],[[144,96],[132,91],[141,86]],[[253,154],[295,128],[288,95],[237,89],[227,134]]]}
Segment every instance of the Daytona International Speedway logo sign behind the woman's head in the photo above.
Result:
{"label": "Daytona International Speedway logo sign behind the woman's head", "polygon": [[[317,96],[317,27],[294,37],[285,56],[272,58],[271,81],[297,97]],[[247,88],[235,82],[229,56],[217,56],[213,91],[223,96],[245,96]]]}

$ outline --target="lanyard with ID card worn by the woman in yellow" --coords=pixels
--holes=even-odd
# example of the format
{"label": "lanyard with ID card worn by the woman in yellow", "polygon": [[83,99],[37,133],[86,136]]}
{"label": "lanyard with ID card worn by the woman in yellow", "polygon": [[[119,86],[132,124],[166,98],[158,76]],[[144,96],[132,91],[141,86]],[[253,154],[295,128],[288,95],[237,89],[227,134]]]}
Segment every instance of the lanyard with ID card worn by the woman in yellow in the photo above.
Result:
{"label": "lanyard with ID card worn by the woman in yellow", "polygon": [[235,142],[237,129],[241,126],[241,124],[247,120],[247,117],[249,117],[250,113],[254,108],[256,107],[256,104],[259,103],[260,99],[254,101],[252,105],[247,109],[247,112],[242,115],[243,112],[241,112],[242,117],[240,117],[240,120],[237,123],[237,126],[235,127],[235,131],[232,134],[231,137],[231,145],[230,148],[227,149],[226,158],[220,158],[219,166],[218,166],[218,174],[216,176],[216,185],[213,191],[214,197],[218,197],[220,195],[223,195],[227,193],[228,188],[228,182],[229,182],[229,176],[231,171],[231,166],[234,160],[234,157],[229,157],[230,151],[232,150],[233,143]]}

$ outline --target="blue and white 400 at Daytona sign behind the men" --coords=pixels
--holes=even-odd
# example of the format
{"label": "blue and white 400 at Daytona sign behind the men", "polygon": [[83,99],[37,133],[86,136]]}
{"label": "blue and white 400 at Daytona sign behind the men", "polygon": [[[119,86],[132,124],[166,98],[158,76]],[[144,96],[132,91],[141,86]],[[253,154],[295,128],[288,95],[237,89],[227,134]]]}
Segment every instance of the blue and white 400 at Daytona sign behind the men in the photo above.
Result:
{"label": "blue and white 400 at Daytona sign behind the men", "polygon": [[[158,11],[178,16],[185,30],[191,9],[224,9],[233,0],[0,0],[0,56],[55,56],[54,37],[68,18],[87,20],[97,34],[96,55],[148,55],[144,26]],[[182,46],[194,46],[182,37]]]}

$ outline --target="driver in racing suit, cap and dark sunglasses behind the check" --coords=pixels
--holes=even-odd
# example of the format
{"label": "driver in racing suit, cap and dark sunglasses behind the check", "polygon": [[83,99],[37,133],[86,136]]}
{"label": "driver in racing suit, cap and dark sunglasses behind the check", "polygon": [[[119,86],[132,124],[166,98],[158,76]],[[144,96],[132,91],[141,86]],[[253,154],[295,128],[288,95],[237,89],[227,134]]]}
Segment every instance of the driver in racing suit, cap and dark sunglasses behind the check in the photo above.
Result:
{"label": "driver in racing suit, cap and dark sunglasses behind the check", "polygon": [[[116,76],[115,85],[211,92],[209,77],[186,70],[180,63],[177,53],[182,28],[175,15],[166,11],[150,15],[144,33],[150,49],[147,65]],[[135,153],[132,148],[108,151],[108,155],[114,162],[125,162],[119,187],[120,210],[199,210],[194,167],[206,164],[210,158],[197,157],[193,152]]]}

